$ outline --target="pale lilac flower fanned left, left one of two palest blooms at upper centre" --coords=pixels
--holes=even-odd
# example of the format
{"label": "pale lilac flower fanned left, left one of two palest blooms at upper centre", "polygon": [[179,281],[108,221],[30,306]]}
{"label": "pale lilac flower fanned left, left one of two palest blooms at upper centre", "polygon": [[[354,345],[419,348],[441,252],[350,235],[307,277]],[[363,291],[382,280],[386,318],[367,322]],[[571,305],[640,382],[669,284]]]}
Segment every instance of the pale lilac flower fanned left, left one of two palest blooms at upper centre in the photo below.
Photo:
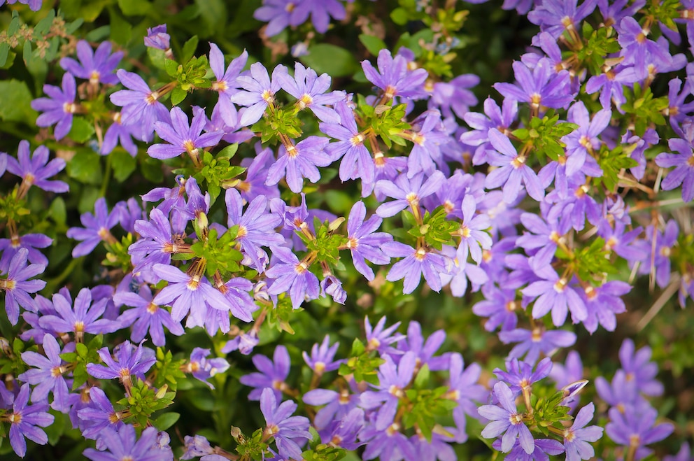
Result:
{"label": "pale lilac flower fanned left, left one of two palest blooms at upper centre", "polygon": [[232,94],[232,102],[248,107],[241,115],[239,125],[243,127],[253,125],[260,120],[268,104],[274,104],[275,93],[281,86],[278,76],[283,73],[287,73],[287,68],[279,64],[272,71],[272,80],[270,80],[267,69],[260,62],[255,62],[250,65],[250,76],[236,78],[236,82],[244,91]]}

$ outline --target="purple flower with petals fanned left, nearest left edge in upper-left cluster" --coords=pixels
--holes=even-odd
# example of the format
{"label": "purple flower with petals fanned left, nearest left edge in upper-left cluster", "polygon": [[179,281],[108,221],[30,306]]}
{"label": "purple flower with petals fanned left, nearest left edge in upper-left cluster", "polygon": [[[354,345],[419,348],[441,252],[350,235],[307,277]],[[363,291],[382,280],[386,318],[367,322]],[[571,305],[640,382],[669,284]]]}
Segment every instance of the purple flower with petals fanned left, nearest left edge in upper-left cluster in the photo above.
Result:
{"label": "purple flower with petals fanned left, nearest left edge in upper-left cluster", "polygon": [[63,74],[62,89],[53,85],[43,85],[43,92],[48,98],[38,98],[31,101],[34,111],[43,112],[36,119],[36,126],[50,127],[55,125],[55,139],[63,139],[72,127],[72,115],[78,111],[75,104],[77,85],[71,73]]}

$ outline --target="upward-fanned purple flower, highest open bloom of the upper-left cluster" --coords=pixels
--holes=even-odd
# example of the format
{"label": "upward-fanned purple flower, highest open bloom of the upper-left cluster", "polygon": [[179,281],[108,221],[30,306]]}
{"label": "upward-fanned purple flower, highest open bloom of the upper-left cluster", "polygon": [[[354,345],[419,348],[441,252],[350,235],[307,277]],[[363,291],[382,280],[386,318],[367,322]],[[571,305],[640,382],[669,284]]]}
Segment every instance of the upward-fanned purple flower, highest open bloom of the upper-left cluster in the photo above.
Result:
{"label": "upward-fanned purple flower, highest open bloom of the upper-left cluster", "polygon": [[60,66],[63,69],[77,78],[89,80],[92,85],[99,82],[105,85],[118,83],[118,77],[113,71],[118,67],[118,63],[123,57],[122,51],[117,51],[111,55],[111,42],[108,41],[102,42],[96,53],[92,51],[92,47],[86,40],[78,41],[76,48],[80,62],[71,57],[64,57],[60,59]]}

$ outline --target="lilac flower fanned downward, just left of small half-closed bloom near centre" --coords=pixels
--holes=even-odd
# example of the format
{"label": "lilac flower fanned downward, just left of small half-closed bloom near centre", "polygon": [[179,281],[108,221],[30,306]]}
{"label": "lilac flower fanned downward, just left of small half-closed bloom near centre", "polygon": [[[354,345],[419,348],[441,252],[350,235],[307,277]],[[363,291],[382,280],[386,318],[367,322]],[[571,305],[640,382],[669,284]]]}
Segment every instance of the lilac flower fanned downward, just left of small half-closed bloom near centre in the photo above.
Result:
{"label": "lilac flower fanned downward, just left of small half-closed bloom near centre", "polygon": [[318,277],[309,270],[306,260],[299,261],[289,248],[276,247],[273,251],[274,256],[281,262],[273,264],[265,272],[268,278],[273,279],[268,289],[269,294],[280,295],[288,292],[295,309],[302,305],[306,296],[309,299],[317,299],[320,294]]}

